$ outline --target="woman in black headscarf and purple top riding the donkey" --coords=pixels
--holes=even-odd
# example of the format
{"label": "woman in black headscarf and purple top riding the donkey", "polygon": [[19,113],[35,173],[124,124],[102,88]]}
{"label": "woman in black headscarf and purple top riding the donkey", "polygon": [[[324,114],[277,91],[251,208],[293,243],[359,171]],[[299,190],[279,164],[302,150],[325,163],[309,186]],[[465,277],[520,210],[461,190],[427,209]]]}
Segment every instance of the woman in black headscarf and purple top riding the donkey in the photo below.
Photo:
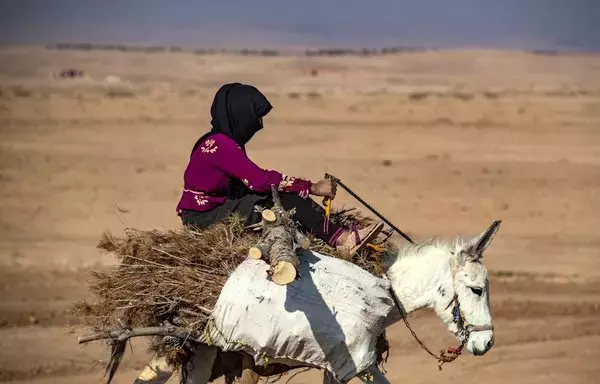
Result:
{"label": "woman in black headscarf and purple top riding the donkey", "polygon": [[272,206],[271,185],[276,185],[283,207],[296,208],[295,219],[304,230],[342,253],[354,254],[379,234],[383,223],[360,230],[330,223],[325,231],[325,212],[308,196],[334,197],[331,180],[312,183],[285,176],[258,167],[246,156],[246,143],[263,128],[263,117],[272,108],[253,86],[233,83],[218,90],[210,110],[212,130],[198,139],[185,170],[177,206],[184,225],[206,228],[234,212],[245,217],[247,225],[257,223],[254,206]]}

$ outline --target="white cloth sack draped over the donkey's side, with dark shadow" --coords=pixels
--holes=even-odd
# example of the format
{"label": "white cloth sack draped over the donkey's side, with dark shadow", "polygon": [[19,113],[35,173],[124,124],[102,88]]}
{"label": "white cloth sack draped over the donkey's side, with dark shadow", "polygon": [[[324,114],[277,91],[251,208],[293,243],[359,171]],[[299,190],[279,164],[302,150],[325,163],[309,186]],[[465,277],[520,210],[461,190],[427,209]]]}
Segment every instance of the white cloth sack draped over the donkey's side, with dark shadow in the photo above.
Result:
{"label": "white cloth sack draped over the donkey's side, with dark shadow", "polygon": [[300,279],[279,286],[247,259],[231,274],[206,329],[209,343],[257,364],[302,363],[347,381],[376,362],[375,343],[394,307],[389,281],[306,251]]}

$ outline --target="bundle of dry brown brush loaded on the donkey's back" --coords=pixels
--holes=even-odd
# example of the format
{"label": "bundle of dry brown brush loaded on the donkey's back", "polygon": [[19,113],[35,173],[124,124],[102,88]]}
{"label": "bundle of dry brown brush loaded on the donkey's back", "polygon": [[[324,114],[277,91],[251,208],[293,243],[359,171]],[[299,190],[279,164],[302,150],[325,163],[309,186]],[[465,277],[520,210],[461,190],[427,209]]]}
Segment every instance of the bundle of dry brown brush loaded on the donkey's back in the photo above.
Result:
{"label": "bundle of dry brown brush loaded on the donkey's back", "polygon": [[[354,221],[359,227],[369,223],[353,210],[334,212],[331,221],[343,226]],[[198,231],[182,227],[168,231],[128,229],[124,237],[103,234],[98,248],[114,253],[120,263],[92,272],[89,283],[93,300],[79,302],[71,309],[74,326],[96,332],[80,342],[111,339],[115,346],[117,339],[124,344],[132,336],[160,334],[177,340],[201,335],[229,275],[261,238],[243,223],[241,217],[232,216]],[[334,248],[309,238],[311,250],[339,257]],[[379,275],[378,256],[366,248],[349,261]],[[137,334],[123,333],[134,328]],[[165,347],[164,340],[152,339],[151,349],[173,353],[181,347]]]}

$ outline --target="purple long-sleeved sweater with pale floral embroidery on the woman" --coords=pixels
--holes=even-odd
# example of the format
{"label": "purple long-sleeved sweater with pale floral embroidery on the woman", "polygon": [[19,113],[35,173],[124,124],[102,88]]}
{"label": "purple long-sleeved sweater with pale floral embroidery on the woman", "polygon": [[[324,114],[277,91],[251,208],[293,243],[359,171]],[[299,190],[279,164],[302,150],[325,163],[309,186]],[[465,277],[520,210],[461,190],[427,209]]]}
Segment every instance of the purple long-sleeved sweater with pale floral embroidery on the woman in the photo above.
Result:
{"label": "purple long-sleeved sweater with pale floral embroidery on the woman", "polygon": [[183,209],[209,211],[227,200],[231,179],[241,180],[257,193],[269,192],[277,185],[280,192],[296,193],[307,198],[312,183],[264,170],[254,164],[237,143],[217,133],[204,140],[194,151],[185,170],[184,187],[177,212]]}

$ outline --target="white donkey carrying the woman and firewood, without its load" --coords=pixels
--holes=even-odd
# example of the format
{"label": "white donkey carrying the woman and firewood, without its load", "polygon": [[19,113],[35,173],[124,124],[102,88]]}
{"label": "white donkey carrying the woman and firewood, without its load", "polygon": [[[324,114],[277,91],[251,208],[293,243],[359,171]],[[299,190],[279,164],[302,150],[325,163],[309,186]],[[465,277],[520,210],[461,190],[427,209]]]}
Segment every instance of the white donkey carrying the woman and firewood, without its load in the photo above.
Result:
{"label": "white donkey carrying the woman and firewood, without its load", "polygon": [[[483,253],[490,245],[500,227],[494,222],[481,235],[455,242],[429,240],[406,245],[395,254],[384,256],[385,274],[390,280],[397,300],[397,309],[388,317],[386,326],[402,320],[403,316],[422,308],[431,308],[473,355],[480,356],[494,345],[494,327],[489,301],[489,282]],[[204,384],[211,377],[213,362],[220,350],[204,344],[196,351],[191,361],[187,384]],[[248,363],[246,356],[244,361]],[[241,364],[241,359],[239,360]],[[291,368],[306,366],[301,362],[290,362]],[[248,368],[248,366],[246,367]],[[251,369],[260,372],[259,367]],[[238,372],[242,371],[239,367]],[[256,383],[258,375],[248,372],[242,375],[245,384]],[[165,383],[173,368],[164,359],[156,358],[150,363],[135,383]],[[385,384],[389,381],[376,365],[359,374],[364,382]],[[233,382],[229,378],[227,382]],[[333,375],[325,371],[324,383],[338,383]]]}

